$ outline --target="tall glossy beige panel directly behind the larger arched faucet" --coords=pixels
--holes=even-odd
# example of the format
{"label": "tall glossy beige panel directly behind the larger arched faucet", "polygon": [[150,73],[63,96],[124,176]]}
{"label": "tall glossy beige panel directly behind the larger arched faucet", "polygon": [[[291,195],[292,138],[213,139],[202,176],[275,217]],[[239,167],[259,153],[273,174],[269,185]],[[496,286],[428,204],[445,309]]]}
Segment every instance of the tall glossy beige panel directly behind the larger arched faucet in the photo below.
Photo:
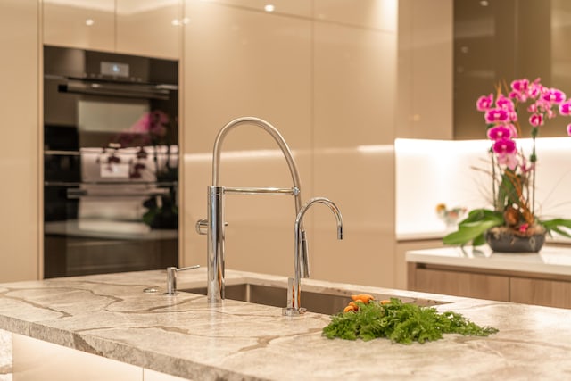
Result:
{"label": "tall glossy beige panel directly behind the larger arched faucet", "polygon": [[[186,1],[183,204],[187,264],[206,260],[206,237],[194,233],[194,222],[206,217],[212,145],[228,121],[255,116],[272,123],[294,153],[303,199],[312,194],[311,25],[278,10],[278,5],[276,12],[263,12],[263,8]],[[292,186],[292,177],[269,134],[244,126],[224,141],[220,185],[284,187]],[[225,207],[227,268],[291,275],[294,198],[228,195]]]}

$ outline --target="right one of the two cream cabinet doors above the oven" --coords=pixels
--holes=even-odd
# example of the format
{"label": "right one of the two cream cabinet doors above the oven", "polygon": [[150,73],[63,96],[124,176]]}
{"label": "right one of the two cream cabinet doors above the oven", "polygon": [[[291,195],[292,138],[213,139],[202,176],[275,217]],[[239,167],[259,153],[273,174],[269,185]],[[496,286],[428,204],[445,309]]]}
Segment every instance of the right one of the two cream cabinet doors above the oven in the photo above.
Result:
{"label": "right one of the two cream cabinet doors above the oven", "polygon": [[117,0],[118,53],[178,59],[181,0]]}

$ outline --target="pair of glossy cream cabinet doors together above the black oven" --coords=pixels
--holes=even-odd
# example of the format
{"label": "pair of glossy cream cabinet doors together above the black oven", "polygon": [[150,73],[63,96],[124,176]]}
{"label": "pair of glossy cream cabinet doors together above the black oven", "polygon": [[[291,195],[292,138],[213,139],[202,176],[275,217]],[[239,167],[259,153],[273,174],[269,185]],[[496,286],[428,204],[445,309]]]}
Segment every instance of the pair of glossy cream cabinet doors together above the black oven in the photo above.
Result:
{"label": "pair of glossy cream cabinet doors together above the black oven", "polygon": [[180,56],[180,0],[44,0],[44,44]]}

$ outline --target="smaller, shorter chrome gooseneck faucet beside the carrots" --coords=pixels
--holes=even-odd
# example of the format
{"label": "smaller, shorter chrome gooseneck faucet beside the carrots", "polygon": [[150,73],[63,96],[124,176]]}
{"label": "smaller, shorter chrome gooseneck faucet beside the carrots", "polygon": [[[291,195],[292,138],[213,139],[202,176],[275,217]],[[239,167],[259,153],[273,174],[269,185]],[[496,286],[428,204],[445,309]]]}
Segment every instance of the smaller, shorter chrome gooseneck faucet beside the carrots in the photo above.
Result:
{"label": "smaller, shorter chrome gooseneck faucet beside the carrots", "polygon": [[333,214],[335,214],[335,219],[337,220],[337,239],[343,239],[343,218],[341,216],[341,211],[339,211],[339,208],[337,208],[335,203],[325,197],[315,197],[303,205],[302,209],[297,213],[297,218],[295,219],[294,277],[288,278],[287,304],[286,307],[282,310],[283,315],[296,316],[305,312],[305,309],[302,308],[300,301],[302,294],[301,278],[309,276],[302,273],[300,266],[302,261],[302,253],[300,252],[302,234],[300,227],[302,226],[303,216],[305,215],[305,212],[308,211],[311,205],[315,203],[324,203],[327,205],[327,207],[329,207],[331,211],[333,211]]}

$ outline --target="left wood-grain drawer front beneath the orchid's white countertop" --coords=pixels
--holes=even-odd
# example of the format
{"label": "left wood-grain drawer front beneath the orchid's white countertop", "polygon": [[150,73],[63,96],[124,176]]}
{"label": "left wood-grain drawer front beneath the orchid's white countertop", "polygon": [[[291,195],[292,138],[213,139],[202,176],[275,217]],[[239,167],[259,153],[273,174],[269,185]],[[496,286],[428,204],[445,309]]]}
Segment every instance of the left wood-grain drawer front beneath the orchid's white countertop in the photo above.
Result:
{"label": "left wood-grain drawer front beneath the orchid's white countertop", "polygon": [[415,290],[470,298],[509,301],[509,277],[438,269],[416,269]]}

